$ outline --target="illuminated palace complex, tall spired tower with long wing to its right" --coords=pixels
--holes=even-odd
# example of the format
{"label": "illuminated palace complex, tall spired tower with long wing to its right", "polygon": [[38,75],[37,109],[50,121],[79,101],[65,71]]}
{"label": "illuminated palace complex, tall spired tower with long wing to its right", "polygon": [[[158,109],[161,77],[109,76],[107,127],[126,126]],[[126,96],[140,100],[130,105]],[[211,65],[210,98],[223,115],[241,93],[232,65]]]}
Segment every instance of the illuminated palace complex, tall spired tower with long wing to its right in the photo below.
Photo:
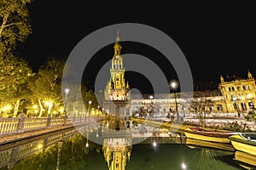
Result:
{"label": "illuminated palace complex, tall spired tower with long wing to its right", "polygon": [[[211,101],[209,105],[204,106],[203,112],[207,113],[243,113],[246,114],[254,109],[255,103],[255,80],[250,73],[247,72],[247,78],[240,77],[220,77],[218,88],[205,92],[195,91],[193,97],[183,98],[180,96],[189,96],[185,92],[177,93],[177,102],[173,94],[154,94],[153,99],[149,99],[152,94],[131,94],[128,82],[125,82],[125,67],[121,56],[121,44],[119,43],[119,33],[114,43],[114,54],[112,65],[110,68],[110,79],[104,91],[104,109],[108,116],[127,117],[132,113],[143,108],[147,111],[152,109],[154,112],[164,116],[167,112],[172,112],[176,108],[179,113],[197,112],[196,108],[192,108],[197,102],[199,105],[204,101]],[[191,94],[191,92],[188,92]],[[132,97],[131,97],[132,95]],[[200,104],[201,103],[201,104]],[[151,106],[150,106],[151,105]],[[151,108],[150,108],[151,107]],[[200,107],[200,106],[198,106]]]}

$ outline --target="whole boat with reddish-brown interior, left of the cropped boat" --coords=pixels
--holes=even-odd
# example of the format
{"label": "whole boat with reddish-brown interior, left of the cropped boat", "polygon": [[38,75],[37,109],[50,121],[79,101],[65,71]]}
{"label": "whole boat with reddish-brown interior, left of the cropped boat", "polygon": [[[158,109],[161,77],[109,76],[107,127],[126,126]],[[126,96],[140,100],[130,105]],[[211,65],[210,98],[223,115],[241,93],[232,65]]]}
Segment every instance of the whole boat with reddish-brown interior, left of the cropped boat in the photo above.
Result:
{"label": "whole boat with reddish-brown interior, left of the cropped boat", "polygon": [[184,134],[187,139],[198,139],[229,144],[229,137],[237,133],[233,131],[210,129],[204,127],[189,127],[184,129]]}

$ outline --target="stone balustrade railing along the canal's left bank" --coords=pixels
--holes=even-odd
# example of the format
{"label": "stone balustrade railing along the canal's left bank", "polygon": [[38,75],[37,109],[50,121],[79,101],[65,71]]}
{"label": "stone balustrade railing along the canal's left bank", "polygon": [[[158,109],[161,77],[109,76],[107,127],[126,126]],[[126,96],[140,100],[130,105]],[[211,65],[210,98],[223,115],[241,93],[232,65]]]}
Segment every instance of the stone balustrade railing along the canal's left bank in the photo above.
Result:
{"label": "stone balustrade railing along the canal's left bank", "polygon": [[23,133],[30,130],[66,126],[84,122],[96,122],[102,117],[25,117],[0,118],[0,136],[9,133]]}

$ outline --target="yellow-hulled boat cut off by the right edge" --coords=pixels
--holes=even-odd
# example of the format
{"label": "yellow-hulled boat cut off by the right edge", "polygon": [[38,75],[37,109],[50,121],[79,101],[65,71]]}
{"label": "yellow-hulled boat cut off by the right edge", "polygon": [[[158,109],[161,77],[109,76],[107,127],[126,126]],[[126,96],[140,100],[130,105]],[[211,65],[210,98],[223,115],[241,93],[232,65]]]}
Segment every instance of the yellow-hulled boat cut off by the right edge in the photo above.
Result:
{"label": "yellow-hulled boat cut off by the right edge", "polygon": [[256,133],[238,133],[230,141],[236,150],[256,156]]}

